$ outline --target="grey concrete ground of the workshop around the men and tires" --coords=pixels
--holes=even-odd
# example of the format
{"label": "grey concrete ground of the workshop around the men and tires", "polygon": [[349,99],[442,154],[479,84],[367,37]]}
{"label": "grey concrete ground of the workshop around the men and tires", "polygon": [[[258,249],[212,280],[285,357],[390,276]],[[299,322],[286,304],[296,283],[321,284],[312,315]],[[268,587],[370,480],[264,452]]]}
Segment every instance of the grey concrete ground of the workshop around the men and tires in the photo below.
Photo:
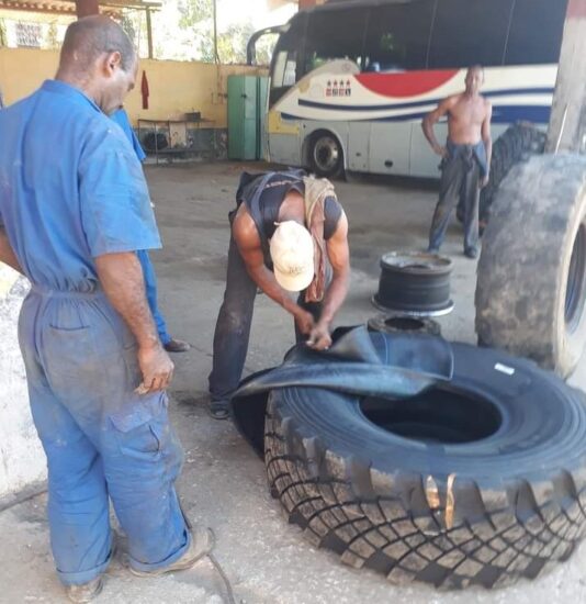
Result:
{"label": "grey concrete ground of the workshop around the men and tires", "polygon": [[[251,166],[261,169],[262,166]],[[204,394],[212,336],[224,291],[228,243],[227,212],[240,165],[149,167],[165,249],[154,254],[160,302],[170,329],[193,344],[177,355],[171,415],[185,448],[179,490],[193,522],[207,523],[217,535],[216,556],[229,575],[236,600],[246,604],[553,604],[586,602],[586,548],[553,573],[507,590],[462,593],[426,586],[395,588],[370,571],[343,567],[336,556],[318,551],[295,526],[284,522],[271,500],[260,459],[227,422],[211,420]],[[435,189],[388,181],[339,183],[339,198],[350,225],[352,287],[338,324],[363,323],[375,314],[379,258],[391,249],[420,249],[436,201]],[[454,259],[454,312],[440,320],[449,339],[474,343],[475,262],[462,256],[461,232],[449,232],[442,253]],[[291,320],[259,297],[247,371],[278,365],[291,345]],[[584,368],[586,363],[582,363]],[[586,383],[582,378],[578,383]],[[16,403],[16,402],[15,402]],[[22,401],[19,401],[22,403]],[[63,602],[53,571],[45,496],[0,514],[0,602]],[[164,579],[137,579],[116,560],[108,573],[104,604],[222,604],[225,591],[205,561]]]}

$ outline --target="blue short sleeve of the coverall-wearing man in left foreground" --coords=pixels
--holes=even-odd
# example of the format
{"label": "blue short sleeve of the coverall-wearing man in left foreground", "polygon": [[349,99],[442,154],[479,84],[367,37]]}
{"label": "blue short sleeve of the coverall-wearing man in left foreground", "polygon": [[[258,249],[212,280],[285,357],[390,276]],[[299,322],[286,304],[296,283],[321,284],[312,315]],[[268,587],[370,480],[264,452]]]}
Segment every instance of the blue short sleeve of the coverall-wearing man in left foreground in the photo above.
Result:
{"label": "blue short sleeve of the coverall-wearing man in left foreground", "polygon": [[161,247],[143,167],[123,132],[100,115],[79,161],[81,225],[92,257]]}

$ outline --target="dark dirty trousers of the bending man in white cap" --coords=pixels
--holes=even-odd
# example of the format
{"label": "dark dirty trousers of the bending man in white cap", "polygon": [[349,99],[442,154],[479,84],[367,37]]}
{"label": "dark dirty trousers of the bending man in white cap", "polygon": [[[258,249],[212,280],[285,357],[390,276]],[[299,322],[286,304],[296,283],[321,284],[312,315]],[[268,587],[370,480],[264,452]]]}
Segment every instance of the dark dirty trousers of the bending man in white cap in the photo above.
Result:
{"label": "dark dirty trousers of the bending man in white cap", "polygon": [[[330,279],[329,266],[327,279]],[[217,317],[214,360],[210,373],[210,394],[213,401],[229,400],[240,382],[248,351],[257,291],[258,287],[246,270],[238,246],[234,237],[230,237],[226,291]],[[297,303],[312,313],[316,321],[319,318],[322,303],[305,302],[305,292],[300,293]],[[264,337],[270,337],[270,334],[264,334]],[[306,338],[300,333],[296,324],[295,338],[297,342]]]}

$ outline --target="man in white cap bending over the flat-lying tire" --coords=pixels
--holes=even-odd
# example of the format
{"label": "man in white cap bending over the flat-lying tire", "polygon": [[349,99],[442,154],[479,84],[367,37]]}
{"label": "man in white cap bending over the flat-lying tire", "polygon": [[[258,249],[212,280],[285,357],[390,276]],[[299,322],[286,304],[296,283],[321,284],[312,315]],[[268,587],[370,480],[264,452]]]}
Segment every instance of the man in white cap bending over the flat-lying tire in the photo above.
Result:
{"label": "man in white cap bending over the flat-lying tire", "polygon": [[[245,172],[236,201],[210,374],[216,420],[228,417],[240,381],[258,288],[293,315],[297,342],[325,350],[350,275],[348,221],[329,181],[302,170]],[[290,292],[301,292],[296,302]]]}

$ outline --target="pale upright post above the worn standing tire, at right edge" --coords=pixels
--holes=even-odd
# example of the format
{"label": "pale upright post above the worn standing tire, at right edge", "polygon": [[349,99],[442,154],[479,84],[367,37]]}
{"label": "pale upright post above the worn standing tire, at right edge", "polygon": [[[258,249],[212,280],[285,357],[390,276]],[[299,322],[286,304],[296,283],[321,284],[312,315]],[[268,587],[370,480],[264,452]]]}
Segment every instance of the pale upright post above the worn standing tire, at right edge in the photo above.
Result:
{"label": "pale upright post above the worn standing tire, at right edge", "polygon": [[586,152],[586,0],[570,0],[553,97],[548,153]]}

